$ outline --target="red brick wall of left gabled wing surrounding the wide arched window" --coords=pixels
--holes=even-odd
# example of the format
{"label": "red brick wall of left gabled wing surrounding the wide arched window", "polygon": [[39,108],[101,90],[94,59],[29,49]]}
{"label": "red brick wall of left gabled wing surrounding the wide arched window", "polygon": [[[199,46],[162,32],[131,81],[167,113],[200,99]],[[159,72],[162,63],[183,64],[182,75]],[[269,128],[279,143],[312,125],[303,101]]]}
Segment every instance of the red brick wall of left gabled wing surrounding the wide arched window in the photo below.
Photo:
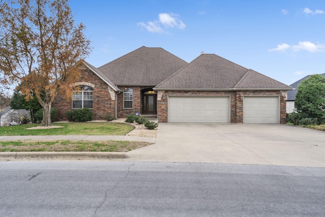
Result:
{"label": "red brick wall of left gabled wing surrounding the wide arched window", "polygon": [[[105,118],[106,114],[115,116],[115,100],[112,100],[109,85],[101,78],[95,75],[91,70],[85,66],[81,66],[81,79],[78,82],[87,82],[93,87],[93,109],[94,119],[98,120],[100,117]],[[111,89],[112,90],[112,89]],[[113,96],[114,98],[114,96]],[[52,107],[57,109],[57,120],[67,120],[66,112],[72,110],[72,98],[65,99],[62,95],[57,95],[52,104]]]}

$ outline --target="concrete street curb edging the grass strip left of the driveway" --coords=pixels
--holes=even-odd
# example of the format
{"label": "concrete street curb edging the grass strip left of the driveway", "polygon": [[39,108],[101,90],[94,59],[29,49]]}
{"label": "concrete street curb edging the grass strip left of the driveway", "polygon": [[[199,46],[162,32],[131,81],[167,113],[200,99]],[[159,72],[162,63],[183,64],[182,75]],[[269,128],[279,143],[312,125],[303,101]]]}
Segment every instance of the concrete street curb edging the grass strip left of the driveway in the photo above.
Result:
{"label": "concrete street curb edging the grass strip left of the driveway", "polygon": [[121,159],[127,158],[125,152],[98,152],[98,151],[22,151],[0,152],[1,159]]}

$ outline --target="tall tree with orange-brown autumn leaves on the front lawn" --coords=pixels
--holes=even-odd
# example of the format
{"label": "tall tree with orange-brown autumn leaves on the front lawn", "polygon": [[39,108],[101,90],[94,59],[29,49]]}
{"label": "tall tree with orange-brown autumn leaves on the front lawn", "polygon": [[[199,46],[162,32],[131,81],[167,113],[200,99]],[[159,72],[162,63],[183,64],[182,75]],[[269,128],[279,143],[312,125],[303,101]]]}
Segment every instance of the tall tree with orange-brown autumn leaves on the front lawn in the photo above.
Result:
{"label": "tall tree with orange-brown autumn leaves on the front lawn", "polygon": [[51,104],[62,92],[71,98],[80,78],[74,67],[91,50],[85,26],[75,25],[68,0],[2,0],[0,9],[0,77],[19,82],[28,101],[43,107],[41,126],[51,126]]}

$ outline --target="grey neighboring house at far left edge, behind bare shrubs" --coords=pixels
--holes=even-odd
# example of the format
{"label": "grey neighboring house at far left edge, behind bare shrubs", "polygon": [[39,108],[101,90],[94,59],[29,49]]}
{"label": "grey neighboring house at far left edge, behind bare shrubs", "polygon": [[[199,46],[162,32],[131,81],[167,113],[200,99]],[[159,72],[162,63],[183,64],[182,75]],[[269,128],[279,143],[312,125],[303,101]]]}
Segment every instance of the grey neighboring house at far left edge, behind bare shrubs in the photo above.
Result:
{"label": "grey neighboring house at far left edge, behind bare shrubs", "polygon": [[29,111],[25,109],[11,109],[6,108],[0,112],[0,127],[9,126],[9,125],[20,125],[22,119],[29,118]]}

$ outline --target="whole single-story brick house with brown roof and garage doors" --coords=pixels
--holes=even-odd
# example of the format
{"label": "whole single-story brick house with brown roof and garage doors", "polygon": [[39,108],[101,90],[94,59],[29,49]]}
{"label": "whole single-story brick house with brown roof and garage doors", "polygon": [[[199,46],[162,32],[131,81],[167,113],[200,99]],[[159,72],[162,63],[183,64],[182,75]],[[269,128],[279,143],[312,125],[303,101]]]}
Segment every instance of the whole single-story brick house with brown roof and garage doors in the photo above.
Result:
{"label": "whole single-story brick house with brown roof and garage doors", "polygon": [[215,54],[186,63],[144,46],[99,68],[78,66],[82,89],[71,101],[56,97],[58,119],[89,107],[94,119],[138,112],[159,122],[285,123],[286,93],[293,89]]}

